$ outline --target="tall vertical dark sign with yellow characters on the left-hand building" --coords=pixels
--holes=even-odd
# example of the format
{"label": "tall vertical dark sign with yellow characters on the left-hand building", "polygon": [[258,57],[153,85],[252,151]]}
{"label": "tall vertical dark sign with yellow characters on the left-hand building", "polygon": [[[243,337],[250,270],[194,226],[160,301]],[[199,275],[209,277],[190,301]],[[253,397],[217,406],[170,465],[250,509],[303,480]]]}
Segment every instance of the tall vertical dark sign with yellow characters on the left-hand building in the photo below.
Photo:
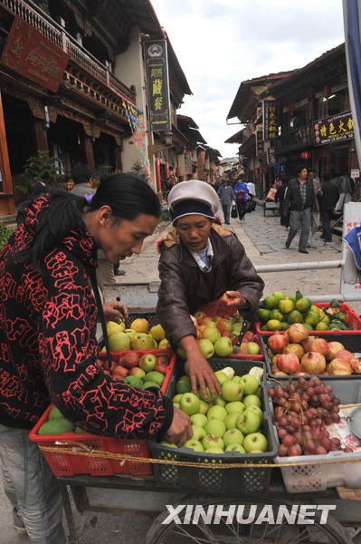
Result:
{"label": "tall vertical dark sign with yellow characters on the left-hand building", "polygon": [[144,58],[147,74],[148,129],[170,131],[172,120],[166,40],[144,42]]}

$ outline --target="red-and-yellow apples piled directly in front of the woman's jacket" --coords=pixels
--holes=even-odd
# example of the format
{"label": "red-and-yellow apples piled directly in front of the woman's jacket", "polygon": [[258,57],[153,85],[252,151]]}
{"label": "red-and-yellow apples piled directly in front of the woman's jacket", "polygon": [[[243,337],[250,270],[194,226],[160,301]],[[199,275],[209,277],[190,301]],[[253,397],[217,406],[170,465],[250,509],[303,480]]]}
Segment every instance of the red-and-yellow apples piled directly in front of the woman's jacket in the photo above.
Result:
{"label": "red-and-yellow apples piled directly in front of the woman's jacket", "polygon": [[[195,312],[193,317],[197,333],[197,344],[204,357],[210,359],[214,355],[228,357],[233,353],[233,344],[240,335],[243,318],[238,313],[232,317],[211,317],[204,312]],[[261,345],[258,336],[247,331],[242,339],[239,348],[240,354],[258,355],[261,352]],[[185,351],[178,347],[178,355],[185,359]]]}

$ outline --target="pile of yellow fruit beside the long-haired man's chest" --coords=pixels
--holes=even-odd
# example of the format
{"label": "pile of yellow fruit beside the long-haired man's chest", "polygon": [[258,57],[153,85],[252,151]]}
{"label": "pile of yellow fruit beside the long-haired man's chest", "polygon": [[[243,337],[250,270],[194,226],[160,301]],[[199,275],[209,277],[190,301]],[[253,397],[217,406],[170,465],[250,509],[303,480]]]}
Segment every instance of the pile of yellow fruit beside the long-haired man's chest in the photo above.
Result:
{"label": "pile of yellow fruit beside the long-haired man's chest", "polygon": [[[110,351],[128,351],[131,349],[170,349],[162,325],[152,326],[149,330],[147,319],[135,319],[129,328],[124,322],[109,321],[107,323]],[[103,349],[105,351],[105,348]]]}

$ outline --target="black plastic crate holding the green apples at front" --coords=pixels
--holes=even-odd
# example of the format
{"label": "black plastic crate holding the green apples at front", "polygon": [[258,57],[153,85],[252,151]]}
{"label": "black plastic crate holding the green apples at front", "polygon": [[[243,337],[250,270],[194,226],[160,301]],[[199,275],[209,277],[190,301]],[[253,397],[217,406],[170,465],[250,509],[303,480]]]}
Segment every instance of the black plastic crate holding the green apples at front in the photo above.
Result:
{"label": "black plastic crate holding the green apples at front", "polygon": [[[265,370],[265,364],[262,361],[235,361],[234,359],[212,358],[209,361],[214,371],[220,370],[226,366],[231,366],[235,374],[248,374],[252,366],[260,366]],[[172,375],[166,395],[173,397],[176,391],[176,381],[184,374],[183,361],[177,359],[175,372]],[[166,459],[167,461],[187,461],[187,462],[212,462],[222,464],[250,462],[264,464],[262,469],[200,469],[192,467],[181,467],[177,465],[154,464],[154,478],[159,487],[176,487],[184,491],[212,491],[212,492],[242,492],[261,493],[268,491],[271,481],[271,469],[267,468],[267,463],[272,462],[277,455],[276,437],[271,423],[270,405],[268,403],[267,386],[265,373],[261,381],[261,403],[264,413],[263,429],[268,444],[269,451],[264,453],[246,453],[227,452],[223,455],[209,454],[204,452],[193,452],[187,448],[168,448],[160,445],[155,440],[148,441],[148,447],[152,457],[157,459]]]}

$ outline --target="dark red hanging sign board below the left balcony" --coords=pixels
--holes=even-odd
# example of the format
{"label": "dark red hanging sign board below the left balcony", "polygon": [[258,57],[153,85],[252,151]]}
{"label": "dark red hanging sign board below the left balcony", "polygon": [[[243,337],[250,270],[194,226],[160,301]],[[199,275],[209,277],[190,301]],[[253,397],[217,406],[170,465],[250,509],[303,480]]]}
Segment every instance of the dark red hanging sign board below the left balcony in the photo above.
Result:
{"label": "dark red hanging sign board below the left balcony", "polygon": [[16,15],[0,63],[57,92],[69,55]]}

